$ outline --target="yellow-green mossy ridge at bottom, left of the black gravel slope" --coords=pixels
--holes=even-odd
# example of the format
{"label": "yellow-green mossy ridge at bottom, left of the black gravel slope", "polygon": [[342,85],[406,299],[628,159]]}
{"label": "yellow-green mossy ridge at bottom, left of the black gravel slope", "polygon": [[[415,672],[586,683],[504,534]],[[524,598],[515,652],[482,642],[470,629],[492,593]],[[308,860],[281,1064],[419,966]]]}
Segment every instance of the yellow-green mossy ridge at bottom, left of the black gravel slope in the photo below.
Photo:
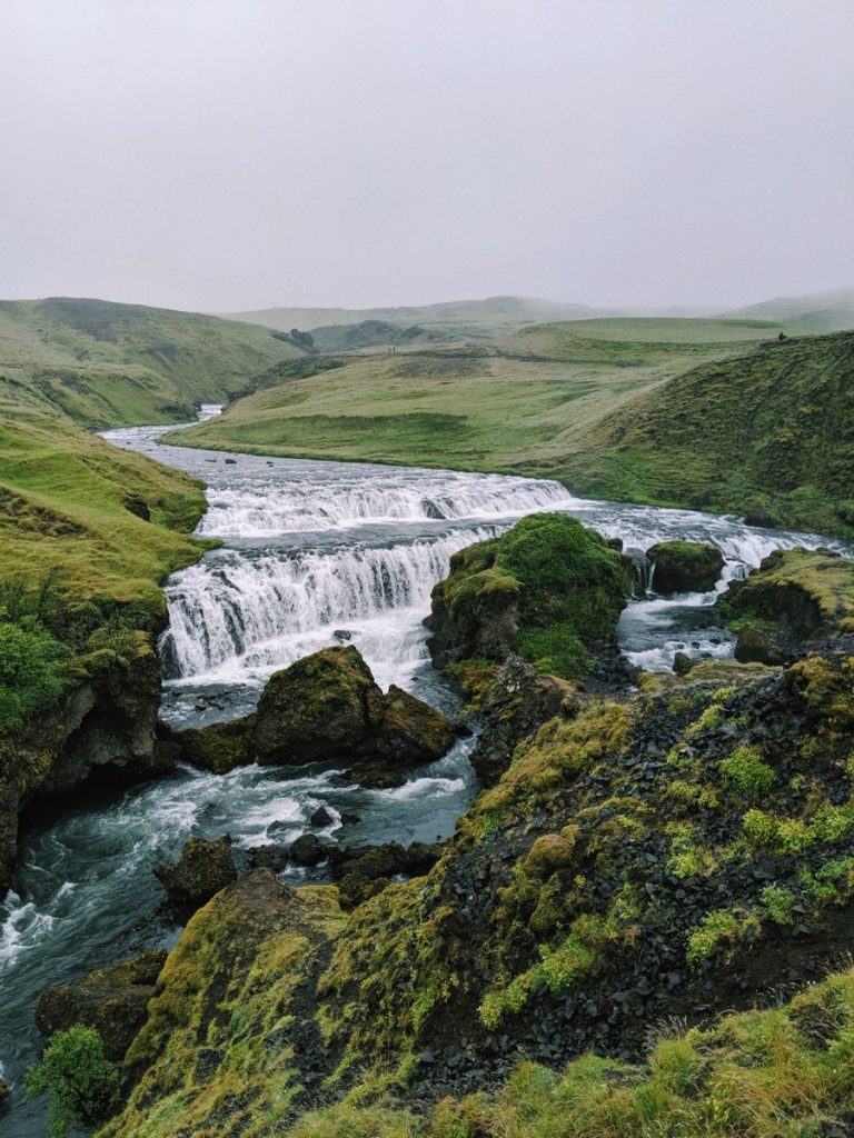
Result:
{"label": "yellow-green mossy ridge at bottom, left of the black gravel slope", "polygon": [[270,1133],[319,1092],[336,1056],[312,999],[342,927],[336,894],[255,869],[195,914],[128,1053],[133,1089],[104,1138]]}

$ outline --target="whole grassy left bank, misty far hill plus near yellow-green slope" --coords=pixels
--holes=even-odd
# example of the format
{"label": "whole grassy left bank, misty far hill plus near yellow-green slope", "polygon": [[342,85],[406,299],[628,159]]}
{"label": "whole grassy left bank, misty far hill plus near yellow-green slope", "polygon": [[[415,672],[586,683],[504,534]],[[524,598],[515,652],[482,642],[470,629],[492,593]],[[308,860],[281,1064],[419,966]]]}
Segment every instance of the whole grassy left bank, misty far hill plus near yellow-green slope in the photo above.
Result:
{"label": "whole grassy left bank, misty far hill plus near yellow-green slope", "polygon": [[159,610],[157,583],[198,556],[186,535],[204,510],[202,487],[84,428],[190,419],[199,403],[301,356],[269,329],[215,316],[0,302],[0,582],[56,568],[75,603]]}

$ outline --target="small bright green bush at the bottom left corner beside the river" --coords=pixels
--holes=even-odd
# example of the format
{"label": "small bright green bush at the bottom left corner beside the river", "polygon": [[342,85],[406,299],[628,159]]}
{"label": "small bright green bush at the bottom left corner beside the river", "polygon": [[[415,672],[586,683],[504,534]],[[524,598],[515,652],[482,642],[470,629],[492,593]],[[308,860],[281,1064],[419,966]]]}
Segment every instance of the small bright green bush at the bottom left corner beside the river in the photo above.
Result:
{"label": "small bright green bush at the bottom left corner beside the river", "polygon": [[95,1125],[109,1114],[118,1098],[118,1070],[98,1032],[79,1024],[50,1039],[24,1087],[28,1098],[48,1096],[47,1138],[67,1138],[72,1128]]}

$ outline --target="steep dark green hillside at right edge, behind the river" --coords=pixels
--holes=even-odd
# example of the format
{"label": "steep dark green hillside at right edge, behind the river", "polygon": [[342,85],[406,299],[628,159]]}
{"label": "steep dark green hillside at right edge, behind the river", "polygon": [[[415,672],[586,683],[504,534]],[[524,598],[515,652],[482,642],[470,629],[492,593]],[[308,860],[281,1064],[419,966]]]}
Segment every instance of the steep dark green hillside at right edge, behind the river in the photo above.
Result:
{"label": "steep dark green hillside at right edge, behind the river", "polygon": [[854,533],[854,332],[772,343],[674,379],[605,419],[572,485]]}

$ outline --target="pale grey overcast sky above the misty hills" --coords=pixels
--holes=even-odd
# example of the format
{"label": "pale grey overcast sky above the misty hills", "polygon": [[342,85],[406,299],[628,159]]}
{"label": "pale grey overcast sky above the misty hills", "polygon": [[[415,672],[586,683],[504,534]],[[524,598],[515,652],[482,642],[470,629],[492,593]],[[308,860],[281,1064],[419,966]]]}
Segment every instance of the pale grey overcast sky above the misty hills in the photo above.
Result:
{"label": "pale grey overcast sky above the misty hills", "polygon": [[854,284],[854,0],[0,0],[0,296]]}

